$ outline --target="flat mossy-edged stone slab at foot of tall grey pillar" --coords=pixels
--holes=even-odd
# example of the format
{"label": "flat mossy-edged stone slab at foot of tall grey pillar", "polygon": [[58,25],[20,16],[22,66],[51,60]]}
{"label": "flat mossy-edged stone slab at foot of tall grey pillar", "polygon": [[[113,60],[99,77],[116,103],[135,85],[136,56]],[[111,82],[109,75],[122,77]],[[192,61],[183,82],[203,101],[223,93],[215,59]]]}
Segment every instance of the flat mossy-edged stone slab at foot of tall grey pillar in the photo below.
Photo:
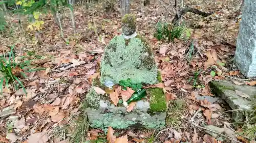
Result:
{"label": "flat mossy-edged stone slab at foot of tall grey pillar", "polygon": [[[243,121],[243,110],[251,110],[253,107],[253,100],[255,100],[256,95],[255,87],[236,85],[227,80],[211,81],[210,87],[214,94],[224,99],[230,108],[235,110],[232,111],[232,118],[235,121]],[[249,97],[243,98],[239,96],[236,90],[245,93]]]}

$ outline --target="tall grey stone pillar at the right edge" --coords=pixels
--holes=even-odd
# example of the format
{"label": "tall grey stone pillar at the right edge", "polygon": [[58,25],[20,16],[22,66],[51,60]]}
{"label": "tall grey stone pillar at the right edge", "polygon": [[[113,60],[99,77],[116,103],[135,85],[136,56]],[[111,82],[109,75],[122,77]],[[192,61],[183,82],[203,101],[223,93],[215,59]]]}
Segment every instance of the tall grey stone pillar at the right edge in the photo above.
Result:
{"label": "tall grey stone pillar at the right edge", "polygon": [[246,77],[256,77],[256,1],[245,0],[235,63]]}

